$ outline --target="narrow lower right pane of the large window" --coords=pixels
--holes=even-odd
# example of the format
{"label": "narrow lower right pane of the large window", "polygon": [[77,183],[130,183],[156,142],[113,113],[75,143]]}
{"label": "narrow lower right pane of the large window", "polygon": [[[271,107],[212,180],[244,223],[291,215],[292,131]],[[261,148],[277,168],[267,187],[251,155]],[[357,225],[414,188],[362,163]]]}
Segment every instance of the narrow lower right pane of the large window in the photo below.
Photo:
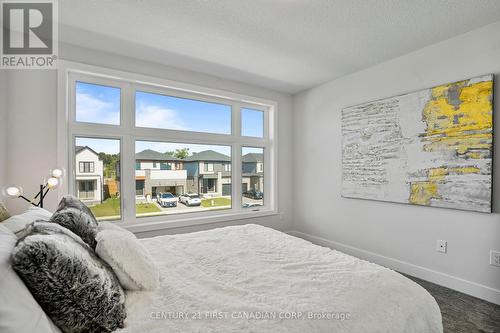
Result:
{"label": "narrow lower right pane of the large window", "polygon": [[241,151],[243,208],[264,205],[264,149],[243,147]]}

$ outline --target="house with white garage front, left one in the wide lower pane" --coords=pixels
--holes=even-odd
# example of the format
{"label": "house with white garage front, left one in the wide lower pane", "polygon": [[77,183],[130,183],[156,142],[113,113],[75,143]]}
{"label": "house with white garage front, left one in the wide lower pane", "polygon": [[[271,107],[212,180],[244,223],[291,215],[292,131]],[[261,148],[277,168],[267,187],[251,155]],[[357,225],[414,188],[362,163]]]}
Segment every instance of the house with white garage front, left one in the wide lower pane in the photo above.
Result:
{"label": "house with white garage front, left one in the wide lower pane", "polygon": [[160,192],[183,194],[187,179],[183,164],[177,157],[150,149],[135,154],[136,196],[154,198]]}

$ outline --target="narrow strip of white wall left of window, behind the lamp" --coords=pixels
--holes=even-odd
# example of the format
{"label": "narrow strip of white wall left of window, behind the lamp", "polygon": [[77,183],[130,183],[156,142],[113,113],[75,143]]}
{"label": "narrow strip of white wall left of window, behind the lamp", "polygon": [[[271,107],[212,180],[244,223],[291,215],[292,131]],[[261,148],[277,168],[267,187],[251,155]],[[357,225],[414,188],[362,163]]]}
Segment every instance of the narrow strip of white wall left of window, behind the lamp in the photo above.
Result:
{"label": "narrow strip of white wall left of window, behind the lamp", "polygon": [[[56,166],[56,73],[49,70],[9,70],[7,73],[7,179],[27,196],[38,191]],[[55,207],[55,193],[47,207]],[[8,199],[13,214],[29,204]]]}

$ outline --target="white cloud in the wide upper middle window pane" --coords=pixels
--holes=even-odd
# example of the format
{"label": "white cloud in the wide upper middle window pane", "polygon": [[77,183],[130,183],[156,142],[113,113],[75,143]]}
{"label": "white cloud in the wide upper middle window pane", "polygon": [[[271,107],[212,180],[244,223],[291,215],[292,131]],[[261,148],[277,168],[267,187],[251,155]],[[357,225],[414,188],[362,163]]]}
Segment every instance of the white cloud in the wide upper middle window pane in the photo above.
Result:
{"label": "white cloud in the wide upper middle window pane", "polygon": [[189,130],[179,118],[176,110],[157,105],[139,105],[136,113],[136,125],[139,127]]}

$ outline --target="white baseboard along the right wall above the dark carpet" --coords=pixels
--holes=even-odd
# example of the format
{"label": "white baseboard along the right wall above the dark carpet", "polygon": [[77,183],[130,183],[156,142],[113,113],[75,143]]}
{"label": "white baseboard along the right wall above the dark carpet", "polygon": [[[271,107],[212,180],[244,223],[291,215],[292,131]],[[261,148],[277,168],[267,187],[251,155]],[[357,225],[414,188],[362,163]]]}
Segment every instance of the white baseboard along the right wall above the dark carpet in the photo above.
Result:
{"label": "white baseboard along the right wall above the dark carpet", "polygon": [[494,289],[476,282],[464,280],[462,278],[438,272],[426,267],[410,264],[405,261],[386,257],[378,253],[366,251],[354,246],[331,241],[326,238],[313,236],[300,231],[289,231],[289,235],[310,241],[311,243],[326,246],[355,257],[371,261],[373,263],[388,267],[401,273],[405,273],[417,278],[444,286],[464,294],[468,294],[485,301],[500,305],[500,290]]}

